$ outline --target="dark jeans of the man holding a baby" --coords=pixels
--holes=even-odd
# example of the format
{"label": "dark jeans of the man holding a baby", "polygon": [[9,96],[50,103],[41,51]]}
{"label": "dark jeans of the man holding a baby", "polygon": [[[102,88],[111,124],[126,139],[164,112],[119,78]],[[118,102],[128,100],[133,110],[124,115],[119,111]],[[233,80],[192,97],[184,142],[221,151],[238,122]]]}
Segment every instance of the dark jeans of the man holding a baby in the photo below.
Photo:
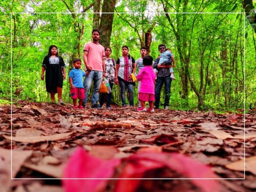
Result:
{"label": "dark jeans of the man holding a baby", "polygon": [[155,89],[155,106],[159,108],[160,103],[160,93],[164,83],[164,92],[165,92],[165,99],[164,99],[164,107],[169,106],[170,100],[170,84],[172,84],[172,79],[170,76],[167,77],[158,77],[156,82],[156,89]]}

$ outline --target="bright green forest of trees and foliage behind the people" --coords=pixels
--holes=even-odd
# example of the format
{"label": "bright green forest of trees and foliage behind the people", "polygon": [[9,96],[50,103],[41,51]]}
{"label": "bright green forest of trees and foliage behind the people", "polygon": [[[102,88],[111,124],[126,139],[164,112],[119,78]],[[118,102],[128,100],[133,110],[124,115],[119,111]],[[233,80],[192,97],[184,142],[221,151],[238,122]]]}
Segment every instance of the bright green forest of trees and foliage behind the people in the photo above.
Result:
{"label": "bright green forest of trees and foliage behind the people", "polygon": [[[114,59],[121,56],[122,45],[135,59],[141,46],[154,59],[159,44],[172,49],[172,109],[254,108],[255,5],[252,0],[1,1],[0,102],[8,103],[11,96],[13,101],[50,101],[40,80],[49,46],[58,47],[68,77],[72,60],[82,59],[83,46],[97,28],[100,43],[111,46]],[[63,99],[71,103],[69,89],[67,78]],[[135,102],[137,91],[136,86]],[[118,86],[113,95],[120,103]]]}

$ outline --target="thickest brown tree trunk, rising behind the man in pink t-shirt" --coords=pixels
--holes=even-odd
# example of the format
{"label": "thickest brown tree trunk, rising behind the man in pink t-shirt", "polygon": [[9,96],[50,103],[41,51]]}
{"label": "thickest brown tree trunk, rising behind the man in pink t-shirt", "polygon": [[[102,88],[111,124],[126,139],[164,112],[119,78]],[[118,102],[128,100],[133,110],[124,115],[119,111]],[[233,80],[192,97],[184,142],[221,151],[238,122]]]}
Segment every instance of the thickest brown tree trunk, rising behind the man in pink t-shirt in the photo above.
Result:
{"label": "thickest brown tree trunk, rising behind the man in pink t-shirt", "polygon": [[101,38],[100,44],[104,47],[110,46],[111,33],[112,33],[112,24],[114,18],[116,0],[104,0],[102,6],[102,15],[100,20],[100,31]]}

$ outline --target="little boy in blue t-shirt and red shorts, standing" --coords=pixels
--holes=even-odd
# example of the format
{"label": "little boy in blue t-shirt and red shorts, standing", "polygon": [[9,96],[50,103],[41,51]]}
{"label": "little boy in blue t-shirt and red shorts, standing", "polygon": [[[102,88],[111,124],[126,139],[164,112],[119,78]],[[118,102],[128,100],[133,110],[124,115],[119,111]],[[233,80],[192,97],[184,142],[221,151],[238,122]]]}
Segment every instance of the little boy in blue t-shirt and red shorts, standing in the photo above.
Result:
{"label": "little boy in blue t-shirt and red shorts, standing", "polygon": [[[84,87],[83,87],[83,77],[89,75],[89,71],[82,71],[81,59],[75,59],[73,61],[74,67],[69,73],[69,83],[70,83],[70,97],[73,99],[74,109],[83,109],[82,101],[84,100]],[[79,105],[76,105],[76,99],[79,99]]]}

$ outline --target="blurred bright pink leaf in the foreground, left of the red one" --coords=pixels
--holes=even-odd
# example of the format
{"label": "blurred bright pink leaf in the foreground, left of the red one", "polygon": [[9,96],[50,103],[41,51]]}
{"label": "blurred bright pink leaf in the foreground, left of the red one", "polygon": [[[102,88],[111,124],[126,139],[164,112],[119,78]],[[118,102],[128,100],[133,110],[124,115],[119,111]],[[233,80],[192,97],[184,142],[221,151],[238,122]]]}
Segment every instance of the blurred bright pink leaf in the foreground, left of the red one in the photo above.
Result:
{"label": "blurred bright pink leaf in the foreground, left of the red one", "polygon": [[[63,178],[111,178],[120,159],[102,160],[90,156],[82,148],[78,148],[70,157],[64,170]],[[105,179],[72,179],[63,180],[66,192],[102,191],[108,180]]]}

